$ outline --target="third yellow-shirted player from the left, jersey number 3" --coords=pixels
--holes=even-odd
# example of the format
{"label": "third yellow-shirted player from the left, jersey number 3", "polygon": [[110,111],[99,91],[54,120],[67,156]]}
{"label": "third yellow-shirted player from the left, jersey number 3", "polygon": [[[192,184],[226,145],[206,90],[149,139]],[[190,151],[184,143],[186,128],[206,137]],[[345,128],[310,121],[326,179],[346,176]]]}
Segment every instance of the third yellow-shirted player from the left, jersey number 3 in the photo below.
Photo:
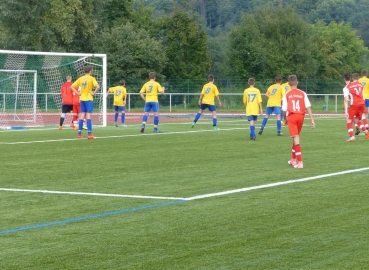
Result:
{"label": "third yellow-shirted player from the left, jersey number 3", "polygon": [[161,87],[161,85],[156,82],[156,74],[155,72],[149,73],[150,81],[145,83],[141,90],[140,96],[145,101],[144,108],[144,116],[142,117],[142,126],[141,133],[145,132],[146,122],[149,117],[149,112],[154,112],[154,132],[160,133],[158,130],[159,125],[159,101],[158,101],[158,93],[164,94],[165,87]]}

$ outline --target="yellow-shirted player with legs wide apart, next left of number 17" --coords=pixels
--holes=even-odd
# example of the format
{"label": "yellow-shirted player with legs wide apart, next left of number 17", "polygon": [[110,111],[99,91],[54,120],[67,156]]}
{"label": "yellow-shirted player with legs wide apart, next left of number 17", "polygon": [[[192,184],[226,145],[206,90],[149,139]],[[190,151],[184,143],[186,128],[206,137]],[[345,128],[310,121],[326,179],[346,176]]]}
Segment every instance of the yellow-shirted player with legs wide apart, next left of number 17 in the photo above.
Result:
{"label": "yellow-shirted player with legs wide apart, next left of number 17", "polygon": [[215,107],[214,98],[217,98],[218,105],[222,106],[222,103],[219,99],[219,91],[218,87],[214,84],[214,75],[209,74],[208,76],[208,83],[205,84],[202,88],[200,98],[199,98],[199,105],[200,110],[196,114],[195,119],[193,120],[191,128],[194,128],[197,121],[200,119],[201,114],[203,111],[208,108],[209,111],[213,114],[213,129],[218,130],[217,127],[217,111]]}

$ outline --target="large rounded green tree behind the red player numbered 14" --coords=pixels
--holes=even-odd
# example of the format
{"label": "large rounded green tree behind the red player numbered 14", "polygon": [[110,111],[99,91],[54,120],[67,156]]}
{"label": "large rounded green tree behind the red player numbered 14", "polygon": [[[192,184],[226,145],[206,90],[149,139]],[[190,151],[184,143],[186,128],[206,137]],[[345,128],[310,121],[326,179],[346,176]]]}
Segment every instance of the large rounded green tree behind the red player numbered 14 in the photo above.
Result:
{"label": "large rounded green tree behind the red player numbered 14", "polygon": [[230,34],[228,65],[237,78],[273,78],[316,73],[316,48],[310,26],[290,7],[257,8]]}

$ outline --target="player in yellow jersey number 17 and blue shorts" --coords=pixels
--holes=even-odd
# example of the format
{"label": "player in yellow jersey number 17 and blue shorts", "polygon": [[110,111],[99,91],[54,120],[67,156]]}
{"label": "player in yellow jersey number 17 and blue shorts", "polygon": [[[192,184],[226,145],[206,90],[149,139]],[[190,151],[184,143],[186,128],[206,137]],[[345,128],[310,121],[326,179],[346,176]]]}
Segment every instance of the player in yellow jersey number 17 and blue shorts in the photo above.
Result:
{"label": "player in yellow jersey number 17 and blue shorts", "polygon": [[255,88],[255,79],[250,78],[248,80],[249,88],[246,88],[243,92],[243,104],[246,106],[247,120],[250,122],[250,139],[255,140],[255,121],[258,120],[258,115],[263,113],[261,106],[262,99],[260,90]]}

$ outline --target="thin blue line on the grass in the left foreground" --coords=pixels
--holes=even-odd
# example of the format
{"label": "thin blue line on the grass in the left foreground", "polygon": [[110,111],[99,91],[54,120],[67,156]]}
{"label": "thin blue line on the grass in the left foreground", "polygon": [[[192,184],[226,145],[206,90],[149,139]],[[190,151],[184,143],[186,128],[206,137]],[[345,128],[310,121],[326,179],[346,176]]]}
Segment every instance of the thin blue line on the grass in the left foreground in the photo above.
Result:
{"label": "thin blue line on the grass in the left foreground", "polygon": [[118,210],[118,211],[113,211],[113,212],[106,212],[106,213],[96,214],[96,215],[91,215],[91,216],[77,217],[77,218],[65,219],[65,220],[48,222],[48,223],[43,223],[43,224],[36,224],[36,225],[25,226],[25,227],[21,227],[21,228],[15,228],[15,229],[10,229],[10,230],[0,231],[0,235],[8,234],[8,233],[14,233],[14,232],[20,232],[20,231],[26,231],[26,230],[31,230],[31,229],[39,229],[39,228],[49,227],[49,226],[54,226],[54,225],[61,225],[61,224],[65,224],[65,223],[72,223],[72,222],[82,221],[82,220],[87,220],[87,219],[100,218],[100,217],[106,217],[106,216],[111,216],[111,215],[118,215],[118,214],[133,212],[133,211],[146,210],[146,209],[151,209],[151,208],[155,208],[155,207],[173,205],[173,204],[178,204],[178,203],[183,203],[183,202],[186,202],[186,200],[177,200],[177,201],[171,201],[171,202],[165,202],[165,203],[150,204],[150,205],[144,205],[144,206],[141,206],[141,207],[134,207],[134,208],[123,209],[123,210]]}

